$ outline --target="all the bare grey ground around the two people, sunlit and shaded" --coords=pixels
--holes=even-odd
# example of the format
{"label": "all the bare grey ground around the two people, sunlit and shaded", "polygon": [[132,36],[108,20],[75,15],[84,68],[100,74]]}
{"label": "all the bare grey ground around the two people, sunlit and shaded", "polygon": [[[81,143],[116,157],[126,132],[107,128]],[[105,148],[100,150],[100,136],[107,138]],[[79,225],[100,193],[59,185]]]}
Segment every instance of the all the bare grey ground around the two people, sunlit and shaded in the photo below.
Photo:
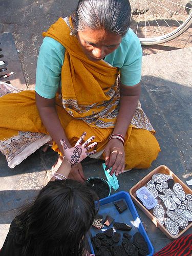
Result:
{"label": "all the bare grey ground around the two people, sunlit and shaded", "polygon": [[[77,0],[1,1],[0,32],[13,34],[27,82],[25,86],[21,82],[23,80],[20,80],[22,88],[34,88],[36,60],[42,41],[41,31],[46,30],[59,16],[69,15],[76,3]],[[120,175],[118,191],[129,191],[161,164],[168,166],[184,183],[191,179],[192,48],[187,47],[187,41],[180,48],[183,49],[161,49],[160,53],[143,57],[141,103],[156,130],[161,153],[149,169],[134,169]],[[10,78],[13,85],[16,79],[15,73]],[[19,87],[19,81],[16,83]],[[5,157],[0,154],[0,248],[18,208],[30,202],[49,181],[51,166],[56,158],[57,154],[51,150],[47,153],[38,150],[19,166],[10,169]],[[104,178],[101,163],[101,160],[84,160],[86,176]],[[148,237],[155,251],[158,251],[170,240],[137,209]],[[186,234],[191,231],[187,230]]]}

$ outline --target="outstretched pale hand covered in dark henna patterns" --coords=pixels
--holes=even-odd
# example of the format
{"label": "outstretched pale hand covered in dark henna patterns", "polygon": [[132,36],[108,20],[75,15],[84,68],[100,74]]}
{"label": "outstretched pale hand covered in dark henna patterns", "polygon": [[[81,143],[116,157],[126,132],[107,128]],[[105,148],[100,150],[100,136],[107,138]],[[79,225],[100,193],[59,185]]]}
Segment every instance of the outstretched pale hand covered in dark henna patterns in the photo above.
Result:
{"label": "outstretched pale hand covered in dark henna patterns", "polygon": [[93,148],[94,146],[97,145],[97,142],[93,142],[92,144],[90,144],[92,142],[92,140],[95,139],[95,137],[92,136],[88,140],[86,140],[84,143],[82,143],[85,136],[86,136],[86,132],[84,132],[81,135],[81,137],[78,139],[75,146],[71,147],[71,148],[69,148],[67,146],[65,140],[60,141],[60,143],[63,147],[63,152],[64,152],[63,159],[70,162],[71,167],[80,163],[87,156],[90,156],[90,155],[93,155],[96,153],[96,150],[88,152],[89,150],[91,150],[91,148]]}

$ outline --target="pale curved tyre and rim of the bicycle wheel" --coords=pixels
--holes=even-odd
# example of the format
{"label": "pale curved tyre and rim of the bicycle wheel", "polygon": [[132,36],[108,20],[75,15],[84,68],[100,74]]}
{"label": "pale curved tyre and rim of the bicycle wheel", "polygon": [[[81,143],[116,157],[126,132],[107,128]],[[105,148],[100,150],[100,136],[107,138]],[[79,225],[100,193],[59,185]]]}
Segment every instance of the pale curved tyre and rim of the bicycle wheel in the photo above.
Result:
{"label": "pale curved tyre and rim of the bicycle wheel", "polygon": [[139,40],[141,42],[141,45],[143,46],[162,44],[163,42],[170,41],[178,37],[179,35],[181,35],[190,27],[191,24],[192,24],[192,12],[189,14],[185,22],[174,31],[159,37],[151,37],[151,38],[139,37]]}

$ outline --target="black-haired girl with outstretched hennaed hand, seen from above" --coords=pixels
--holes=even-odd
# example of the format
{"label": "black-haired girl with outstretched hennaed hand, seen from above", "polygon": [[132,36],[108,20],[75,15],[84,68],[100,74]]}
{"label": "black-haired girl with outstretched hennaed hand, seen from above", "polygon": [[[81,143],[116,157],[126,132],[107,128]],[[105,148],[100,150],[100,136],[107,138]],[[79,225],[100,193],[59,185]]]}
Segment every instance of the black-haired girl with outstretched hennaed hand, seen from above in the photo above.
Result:
{"label": "black-haired girl with outstretched hennaed hand, seen from above", "polygon": [[[37,198],[12,221],[1,256],[86,256],[87,232],[97,213],[97,196],[86,184],[67,179],[71,166],[78,164],[96,145],[82,144],[67,148],[65,159]],[[88,247],[89,248],[89,247]]]}

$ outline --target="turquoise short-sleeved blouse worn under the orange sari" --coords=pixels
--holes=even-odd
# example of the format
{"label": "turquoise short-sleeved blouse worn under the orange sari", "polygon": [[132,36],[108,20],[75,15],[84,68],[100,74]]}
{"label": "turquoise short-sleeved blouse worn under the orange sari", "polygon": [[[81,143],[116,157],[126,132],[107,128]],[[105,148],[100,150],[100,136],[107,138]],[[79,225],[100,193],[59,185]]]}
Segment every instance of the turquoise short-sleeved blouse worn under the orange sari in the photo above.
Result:
{"label": "turquoise short-sleeved blouse worn under the orange sari", "polygon": [[[37,60],[35,91],[44,98],[52,99],[61,86],[61,67],[65,47],[51,37],[45,37]],[[120,46],[104,60],[119,68],[121,83],[134,86],[141,80],[142,49],[132,29],[122,38]]]}

